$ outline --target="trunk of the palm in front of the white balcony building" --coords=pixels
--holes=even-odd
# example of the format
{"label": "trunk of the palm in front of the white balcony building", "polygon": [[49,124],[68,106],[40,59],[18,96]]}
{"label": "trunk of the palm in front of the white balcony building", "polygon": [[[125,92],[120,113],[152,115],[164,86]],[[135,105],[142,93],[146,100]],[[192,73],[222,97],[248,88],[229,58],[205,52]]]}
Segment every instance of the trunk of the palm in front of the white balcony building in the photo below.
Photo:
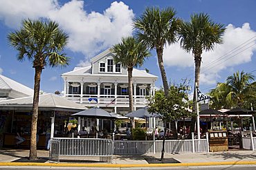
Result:
{"label": "trunk of the palm in front of the white balcony building", "polygon": [[[129,93],[129,112],[134,111],[134,99],[132,93],[132,70],[133,68],[127,68],[128,70],[128,93]],[[131,127],[135,128],[134,118],[131,119]]]}

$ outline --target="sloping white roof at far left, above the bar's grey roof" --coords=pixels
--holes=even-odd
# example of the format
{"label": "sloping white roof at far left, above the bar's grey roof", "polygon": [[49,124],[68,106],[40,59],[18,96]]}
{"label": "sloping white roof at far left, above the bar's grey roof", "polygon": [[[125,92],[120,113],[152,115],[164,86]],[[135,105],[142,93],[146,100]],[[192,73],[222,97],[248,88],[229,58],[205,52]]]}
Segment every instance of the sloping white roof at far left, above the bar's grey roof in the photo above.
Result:
{"label": "sloping white roof at far left, above the bar's grey roof", "polygon": [[17,91],[19,93],[24,93],[24,95],[28,95],[28,96],[33,95],[34,93],[32,88],[29,88],[27,86],[24,86],[23,84],[15,82],[14,80],[9,79],[8,77],[5,77],[3,75],[0,75],[0,89]]}

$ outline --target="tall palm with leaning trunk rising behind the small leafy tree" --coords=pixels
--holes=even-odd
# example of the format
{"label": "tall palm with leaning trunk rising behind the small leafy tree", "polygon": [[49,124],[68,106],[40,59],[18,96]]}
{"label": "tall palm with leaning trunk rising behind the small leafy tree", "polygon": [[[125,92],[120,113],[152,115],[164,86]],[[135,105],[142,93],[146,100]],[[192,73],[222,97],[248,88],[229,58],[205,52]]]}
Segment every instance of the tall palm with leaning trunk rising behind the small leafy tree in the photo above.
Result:
{"label": "tall palm with leaning trunk rising behind the small leafy tree", "polygon": [[180,20],[175,17],[173,8],[147,8],[141,17],[134,20],[136,37],[151,50],[156,49],[158,65],[161,71],[165,96],[168,95],[169,86],[163,65],[163,48],[166,44],[176,42],[176,32]]}

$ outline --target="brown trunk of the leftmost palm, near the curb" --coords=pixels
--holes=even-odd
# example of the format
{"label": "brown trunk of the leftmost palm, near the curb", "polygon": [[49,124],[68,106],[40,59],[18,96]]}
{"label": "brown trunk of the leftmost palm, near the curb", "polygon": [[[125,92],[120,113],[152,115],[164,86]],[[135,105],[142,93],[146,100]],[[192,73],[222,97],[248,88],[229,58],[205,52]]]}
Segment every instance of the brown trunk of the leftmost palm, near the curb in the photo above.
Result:
{"label": "brown trunk of the leftmost palm, near the curb", "polygon": [[35,67],[35,84],[34,84],[34,97],[33,97],[33,114],[31,119],[31,133],[30,133],[30,160],[37,160],[37,117],[38,117],[38,104],[39,104],[39,90],[42,68]]}

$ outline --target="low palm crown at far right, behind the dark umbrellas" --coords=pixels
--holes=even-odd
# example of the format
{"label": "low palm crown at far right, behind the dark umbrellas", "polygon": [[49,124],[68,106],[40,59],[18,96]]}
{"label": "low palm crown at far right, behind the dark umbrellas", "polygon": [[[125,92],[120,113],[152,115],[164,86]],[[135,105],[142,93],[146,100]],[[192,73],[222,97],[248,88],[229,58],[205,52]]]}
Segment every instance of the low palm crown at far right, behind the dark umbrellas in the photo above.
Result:
{"label": "low palm crown at far right, behind the dark umbrellas", "polygon": [[253,80],[254,76],[251,73],[244,73],[244,71],[239,73],[237,71],[237,73],[228,76],[225,83],[217,84],[217,87],[210,91],[210,95],[218,99],[216,102],[221,103],[226,108],[241,108],[246,102],[250,102],[250,99],[255,100],[256,98],[256,82]]}

